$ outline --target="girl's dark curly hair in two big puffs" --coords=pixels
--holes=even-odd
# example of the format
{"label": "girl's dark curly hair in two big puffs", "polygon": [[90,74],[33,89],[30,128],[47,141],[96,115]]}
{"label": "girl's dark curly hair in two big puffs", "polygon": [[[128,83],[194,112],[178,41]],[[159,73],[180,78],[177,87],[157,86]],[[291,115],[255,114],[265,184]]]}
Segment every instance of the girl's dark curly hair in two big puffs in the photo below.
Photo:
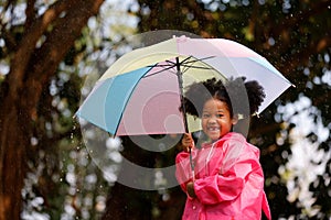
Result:
{"label": "girl's dark curly hair in two big puffs", "polygon": [[184,92],[183,106],[186,113],[200,117],[204,103],[212,99],[224,101],[229,110],[231,117],[242,114],[248,117],[257,112],[258,107],[266,97],[264,88],[256,81],[246,81],[245,77],[231,78],[226,81],[207,79],[194,82]]}

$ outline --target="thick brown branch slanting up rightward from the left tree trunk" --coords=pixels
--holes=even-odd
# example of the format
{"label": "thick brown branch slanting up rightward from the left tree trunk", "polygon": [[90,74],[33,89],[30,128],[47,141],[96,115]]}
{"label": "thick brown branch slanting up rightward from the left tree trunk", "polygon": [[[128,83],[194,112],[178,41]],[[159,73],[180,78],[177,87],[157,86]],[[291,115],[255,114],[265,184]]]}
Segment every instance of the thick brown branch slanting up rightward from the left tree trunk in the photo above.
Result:
{"label": "thick brown branch slanting up rightward from the left tree trunk", "polygon": [[[26,91],[24,92],[26,99],[23,99],[26,102],[23,105],[30,110],[29,114],[33,119],[36,117],[36,106],[43,86],[56,72],[58,64],[82,33],[82,29],[86,25],[87,20],[98,12],[104,0],[88,0],[71,4],[75,10],[71,10],[71,13],[54,21],[56,25],[52,33],[44,44],[35,50],[33,59],[31,59],[31,64],[35,65],[29,65],[30,69],[26,73],[28,78],[25,82],[25,85],[33,85],[34,89],[23,88]],[[58,50],[58,47],[62,47],[62,50]]]}

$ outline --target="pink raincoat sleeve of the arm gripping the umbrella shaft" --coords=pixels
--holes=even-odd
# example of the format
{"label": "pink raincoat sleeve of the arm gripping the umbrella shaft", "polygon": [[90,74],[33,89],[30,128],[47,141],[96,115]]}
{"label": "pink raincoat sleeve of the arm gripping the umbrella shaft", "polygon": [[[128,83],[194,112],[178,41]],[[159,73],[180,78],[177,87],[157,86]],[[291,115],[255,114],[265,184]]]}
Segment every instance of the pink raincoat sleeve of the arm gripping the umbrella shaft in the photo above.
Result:
{"label": "pink raincoat sleeve of the arm gripping the umbrella shaft", "polygon": [[[192,151],[192,158],[196,157],[196,151]],[[181,152],[175,157],[175,177],[181,188],[186,193],[186,184],[192,182],[192,168],[190,164],[190,153]]]}

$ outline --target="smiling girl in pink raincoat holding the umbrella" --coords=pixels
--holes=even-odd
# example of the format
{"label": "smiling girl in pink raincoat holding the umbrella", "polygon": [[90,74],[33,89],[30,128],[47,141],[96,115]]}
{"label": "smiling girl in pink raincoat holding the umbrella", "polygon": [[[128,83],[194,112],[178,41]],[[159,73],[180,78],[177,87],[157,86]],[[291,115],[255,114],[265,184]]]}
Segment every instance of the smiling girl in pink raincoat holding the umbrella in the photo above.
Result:
{"label": "smiling girl in pink raincoat holding the umbrella", "polygon": [[[233,132],[239,116],[246,114],[244,108],[234,108],[234,102],[244,103],[238,97],[248,97],[248,114],[255,113],[265,98],[257,81],[244,81],[243,77],[223,84],[213,78],[191,85],[185,92],[185,110],[201,117],[203,133],[210,141],[199,148],[191,134],[181,141],[183,151],[175,158],[175,176],[188,195],[182,219],[257,220],[261,219],[261,210],[271,219],[259,150]],[[192,173],[189,150],[194,163]]]}

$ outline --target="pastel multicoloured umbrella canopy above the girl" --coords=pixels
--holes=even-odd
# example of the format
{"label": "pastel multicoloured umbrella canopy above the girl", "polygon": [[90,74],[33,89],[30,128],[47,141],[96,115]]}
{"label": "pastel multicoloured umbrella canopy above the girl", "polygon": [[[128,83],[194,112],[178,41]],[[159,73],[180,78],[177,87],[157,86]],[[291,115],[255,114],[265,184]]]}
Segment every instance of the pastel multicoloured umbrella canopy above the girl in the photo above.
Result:
{"label": "pastel multicoloured umbrella canopy above the girl", "polygon": [[174,36],[121,56],[76,114],[119,136],[194,132],[199,119],[180,111],[185,88],[213,77],[239,76],[265,88],[257,113],[291,86],[267,59],[239,43]]}

